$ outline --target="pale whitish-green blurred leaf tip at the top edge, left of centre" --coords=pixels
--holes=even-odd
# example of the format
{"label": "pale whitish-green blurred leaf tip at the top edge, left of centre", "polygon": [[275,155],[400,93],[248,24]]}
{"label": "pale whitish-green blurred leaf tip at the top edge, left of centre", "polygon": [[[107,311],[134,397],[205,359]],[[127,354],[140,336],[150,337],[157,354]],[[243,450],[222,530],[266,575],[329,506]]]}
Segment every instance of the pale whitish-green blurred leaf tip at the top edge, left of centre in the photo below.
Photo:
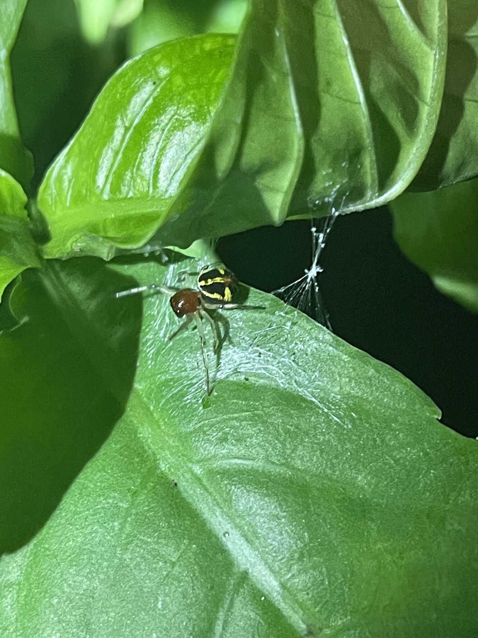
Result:
{"label": "pale whitish-green blurred leaf tip at the top edge, left of centre", "polygon": [[98,45],[110,26],[123,27],[140,15],[143,0],[75,0],[83,36]]}

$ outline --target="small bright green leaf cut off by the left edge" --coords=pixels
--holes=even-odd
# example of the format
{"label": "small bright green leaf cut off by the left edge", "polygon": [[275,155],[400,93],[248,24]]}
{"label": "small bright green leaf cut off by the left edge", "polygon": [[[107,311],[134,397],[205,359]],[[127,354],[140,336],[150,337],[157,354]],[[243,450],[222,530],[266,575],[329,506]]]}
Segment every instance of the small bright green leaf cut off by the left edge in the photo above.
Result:
{"label": "small bright green leaf cut off by the left edge", "polygon": [[0,168],[0,300],[5,286],[20,272],[41,265],[26,203],[20,184]]}

